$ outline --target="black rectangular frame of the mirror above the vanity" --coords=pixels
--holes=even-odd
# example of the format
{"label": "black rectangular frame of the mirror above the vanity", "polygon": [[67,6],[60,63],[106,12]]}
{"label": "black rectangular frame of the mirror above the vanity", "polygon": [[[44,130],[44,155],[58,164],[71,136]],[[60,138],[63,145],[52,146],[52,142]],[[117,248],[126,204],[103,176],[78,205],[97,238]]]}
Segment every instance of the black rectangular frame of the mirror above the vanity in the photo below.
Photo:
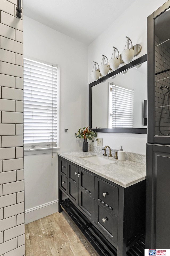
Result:
{"label": "black rectangular frame of the mirror above the vanity", "polygon": [[88,118],[89,118],[89,126],[92,130],[96,131],[97,133],[142,133],[147,134],[147,128],[100,128],[96,129],[95,127],[91,127],[92,125],[92,87],[113,77],[114,75],[118,75],[132,67],[135,67],[143,62],[147,61],[147,54],[131,61],[129,64],[126,64],[119,69],[107,74],[105,77],[101,77],[97,81],[94,81],[88,85]]}

